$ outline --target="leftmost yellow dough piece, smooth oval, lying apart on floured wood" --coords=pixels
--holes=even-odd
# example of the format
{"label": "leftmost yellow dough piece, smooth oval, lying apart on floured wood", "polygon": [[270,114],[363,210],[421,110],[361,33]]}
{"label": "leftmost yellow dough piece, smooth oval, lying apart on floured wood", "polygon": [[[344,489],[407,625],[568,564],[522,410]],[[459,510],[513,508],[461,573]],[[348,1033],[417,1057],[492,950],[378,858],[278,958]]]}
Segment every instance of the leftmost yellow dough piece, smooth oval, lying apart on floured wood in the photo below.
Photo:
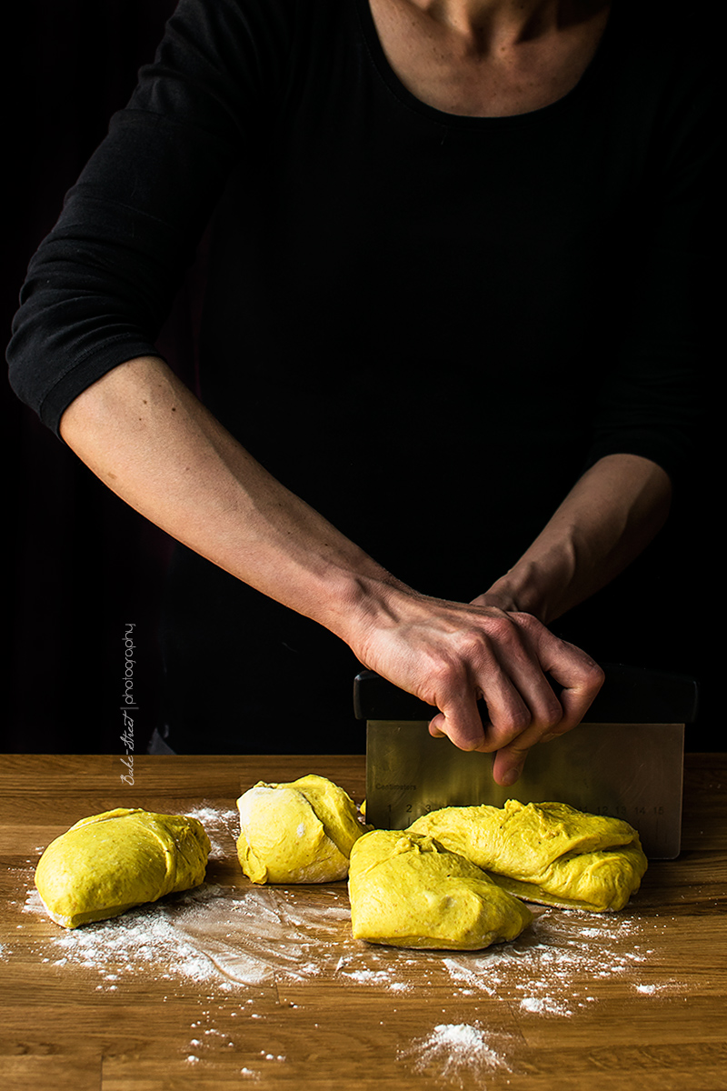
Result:
{"label": "leftmost yellow dough piece, smooth oval, lying apart on floured wood", "polygon": [[209,848],[196,818],[119,807],[82,818],[51,841],[35,885],[52,920],[75,928],[198,886]]}

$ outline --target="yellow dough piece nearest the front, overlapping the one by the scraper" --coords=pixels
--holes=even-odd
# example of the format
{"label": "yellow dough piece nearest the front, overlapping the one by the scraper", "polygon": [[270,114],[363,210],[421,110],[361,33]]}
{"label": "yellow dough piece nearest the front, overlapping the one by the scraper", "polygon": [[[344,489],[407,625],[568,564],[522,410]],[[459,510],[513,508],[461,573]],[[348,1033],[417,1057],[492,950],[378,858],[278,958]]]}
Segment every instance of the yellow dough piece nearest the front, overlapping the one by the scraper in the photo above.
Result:
{"label": "yellow dough piece nearest the front, overlapping the one by the scraper", "polygon": [[532,920],[464,856],[401,830],[356,841],[349,896],[354,937],[393,947],[478,950],[514,939]]}

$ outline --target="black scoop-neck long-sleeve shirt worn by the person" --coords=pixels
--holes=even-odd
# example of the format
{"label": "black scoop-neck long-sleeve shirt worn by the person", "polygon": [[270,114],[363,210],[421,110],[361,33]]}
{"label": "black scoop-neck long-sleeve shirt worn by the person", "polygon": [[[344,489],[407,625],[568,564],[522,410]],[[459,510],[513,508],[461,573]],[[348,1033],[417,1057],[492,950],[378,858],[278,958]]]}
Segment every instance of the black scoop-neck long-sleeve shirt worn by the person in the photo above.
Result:
{"label": "black scoop-neck long-sleeve shirt worn by the person", "polygon": [[[58,430],[87,385],[154,355],[216,208],[204,400],[421,590],[480,594],[603,455],[678,478],[710,351],[718,123],[668,8],[615,0],[568,95],[472,118],[403,87],[367,0],[182,0],[33,260],[15,389]],[[328,648],[291,626],[315,628],[180,549],[170,678],[189,694],[216,664],[185,697],[190,734],[210,690],[238,707],[241,661]]]}

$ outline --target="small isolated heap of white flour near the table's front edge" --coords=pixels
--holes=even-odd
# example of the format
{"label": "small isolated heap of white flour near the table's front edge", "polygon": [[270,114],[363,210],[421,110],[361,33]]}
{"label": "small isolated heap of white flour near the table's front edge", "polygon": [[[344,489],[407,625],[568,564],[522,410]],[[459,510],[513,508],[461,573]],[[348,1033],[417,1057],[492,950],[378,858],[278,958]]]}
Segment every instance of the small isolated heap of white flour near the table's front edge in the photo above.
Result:
{"label": "small isolated heap of white flour near the table's front edge", "polygon": [[399,1057],[410,1060],[416,1072],[431,1071],[463,1084],[465,1076],[484,1079],[494,1069],[511,1071],[492,1042],[480,1023],[439,1023],[426,1038],[400,1051]]}

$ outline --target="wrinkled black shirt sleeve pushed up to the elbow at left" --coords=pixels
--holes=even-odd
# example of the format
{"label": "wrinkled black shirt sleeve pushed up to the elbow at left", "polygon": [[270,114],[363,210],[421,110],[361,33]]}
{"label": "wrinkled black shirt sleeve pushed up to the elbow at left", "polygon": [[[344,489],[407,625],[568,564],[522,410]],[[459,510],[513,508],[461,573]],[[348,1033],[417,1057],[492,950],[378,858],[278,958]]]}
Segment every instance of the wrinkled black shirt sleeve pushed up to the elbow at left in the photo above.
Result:
{"label": "wrinkled black shirt sleeve pushed up to the elbow at left", "polygon": [[284,96],[287,0],[181,0],[155,62],[34,255],[8,348],[19,397],[59,434],[158,335],[230,171]]}

